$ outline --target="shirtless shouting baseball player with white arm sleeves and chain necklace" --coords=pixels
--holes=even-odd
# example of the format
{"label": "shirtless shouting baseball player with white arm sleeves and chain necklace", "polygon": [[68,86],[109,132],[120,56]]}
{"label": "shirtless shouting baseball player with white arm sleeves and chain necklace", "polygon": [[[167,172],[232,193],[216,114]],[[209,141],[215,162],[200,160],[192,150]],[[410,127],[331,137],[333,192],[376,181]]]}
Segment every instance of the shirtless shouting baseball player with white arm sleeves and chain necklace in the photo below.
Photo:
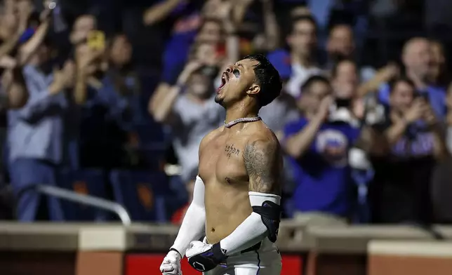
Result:
{"label": "shirtless shouting baseball player with white arm sleeves and chain necklace", "polygon": [[215,102],[225,125],[199,146],[193,201],[161,264],[180,275],[180,259],[205,275],[277,275],[281,216],[281,149],[258,116],[281,91],[279,73],[263,55],[239,60],[222,74]]}

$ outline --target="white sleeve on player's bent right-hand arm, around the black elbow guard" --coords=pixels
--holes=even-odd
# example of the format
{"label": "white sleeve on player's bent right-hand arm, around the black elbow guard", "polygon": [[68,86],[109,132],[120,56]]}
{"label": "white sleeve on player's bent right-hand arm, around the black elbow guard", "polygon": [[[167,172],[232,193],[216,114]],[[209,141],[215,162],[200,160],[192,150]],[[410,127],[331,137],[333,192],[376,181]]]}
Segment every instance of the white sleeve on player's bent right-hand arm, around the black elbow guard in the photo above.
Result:
{"label": "white sleeve on player's bent right-hand arm, around the black elbow guard", "polygon": [[[264,201],[281,204],[281,196],[249,192],[251,206],[262,206]],[[229,236],[220,241],[220,247],[226,250],[226,255],[238,253],[262,241],[267,236],[267,227],[258,213],[251,213]]]}

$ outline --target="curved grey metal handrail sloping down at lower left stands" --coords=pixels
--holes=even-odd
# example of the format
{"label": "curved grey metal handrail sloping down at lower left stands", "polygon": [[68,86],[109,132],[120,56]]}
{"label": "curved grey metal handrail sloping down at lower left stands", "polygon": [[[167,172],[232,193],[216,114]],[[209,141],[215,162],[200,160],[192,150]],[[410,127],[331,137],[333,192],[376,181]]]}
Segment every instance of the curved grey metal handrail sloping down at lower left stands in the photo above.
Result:
{"label": "curved grey metal handrail sloping down at lower left stands", "polygon": [[65,199],[66,201],[72,201],[74,203],[80,203],[86,206],[92,206],[93,208],[99,208],[102,210],[107,210],[109,212],[116,213],[121,220],[122,224],[130,225],[131,216],[124,206],[113,201],[108,201],[106,199],[100,199],[95,196],[78,194],[74,191],[63,189],[60,187],[48,186],[48,185],[32,185],[20,190],[17,200],[20,201],[22,196],[27,192],[37,192],[45,194],[46,196],[54,196],[58,199]]}

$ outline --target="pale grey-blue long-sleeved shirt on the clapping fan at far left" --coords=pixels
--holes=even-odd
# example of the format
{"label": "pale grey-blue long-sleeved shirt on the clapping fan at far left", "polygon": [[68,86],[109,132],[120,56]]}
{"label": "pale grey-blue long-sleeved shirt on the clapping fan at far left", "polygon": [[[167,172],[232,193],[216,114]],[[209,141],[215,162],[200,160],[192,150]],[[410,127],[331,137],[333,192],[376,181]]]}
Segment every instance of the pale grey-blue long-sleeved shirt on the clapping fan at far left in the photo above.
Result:
{"label": "pale grey-blue long-sleeved shirt on the clapping fan at far left", "polygon": [[29,99],[21,109],[8,111],[9,161],[31,158],[62,163],[70,102],[64,92],[48,93],[53,74],[28,65],[23,75]]}

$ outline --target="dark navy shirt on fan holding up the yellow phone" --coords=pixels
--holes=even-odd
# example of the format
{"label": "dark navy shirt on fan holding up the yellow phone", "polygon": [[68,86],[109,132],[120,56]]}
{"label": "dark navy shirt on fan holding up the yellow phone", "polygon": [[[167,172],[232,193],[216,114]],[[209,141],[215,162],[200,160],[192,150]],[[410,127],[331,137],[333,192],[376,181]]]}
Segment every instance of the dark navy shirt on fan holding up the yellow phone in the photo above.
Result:
{"label": "dark navy shirt on fan holding up the yellow phone", "polygon": [[[115,85],[114,72],[108,72],[98,90],[90,88],[82,109],[79,139],[81,165],[118,167],[127,160],[124,145],[127,133],[133,128],[128,95],[128,79],[124,86]],[[121,90],[119,90],[121,89]]]}

